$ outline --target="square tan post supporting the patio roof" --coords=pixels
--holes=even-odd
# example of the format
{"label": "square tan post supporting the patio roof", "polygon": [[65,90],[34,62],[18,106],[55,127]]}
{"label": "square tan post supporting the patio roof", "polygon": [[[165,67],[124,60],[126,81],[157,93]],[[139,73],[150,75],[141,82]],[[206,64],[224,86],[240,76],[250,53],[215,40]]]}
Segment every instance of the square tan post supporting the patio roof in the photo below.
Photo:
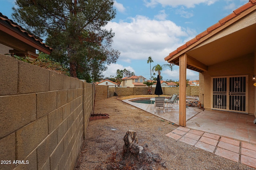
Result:
{"label": "square tan post supporting the patio roof", "polygon": [[186,126],[186,69],[187,69],[187,54],[180,55],[180,111],[179,125]]}

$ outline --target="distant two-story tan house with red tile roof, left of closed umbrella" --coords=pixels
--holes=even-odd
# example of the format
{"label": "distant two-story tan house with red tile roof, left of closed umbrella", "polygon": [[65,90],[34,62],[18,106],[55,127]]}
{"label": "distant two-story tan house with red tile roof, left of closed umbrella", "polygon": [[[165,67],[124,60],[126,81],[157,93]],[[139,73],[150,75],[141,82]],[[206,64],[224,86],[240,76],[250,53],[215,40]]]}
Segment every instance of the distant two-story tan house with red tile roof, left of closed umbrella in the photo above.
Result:
{"label": "distant two-story tan house with red tile roof, left of closed umbrella", "polygon": [[147,87],[146,84],[143,84],[146,78],[143,76],[130,76],[122,78],[120,87]]}

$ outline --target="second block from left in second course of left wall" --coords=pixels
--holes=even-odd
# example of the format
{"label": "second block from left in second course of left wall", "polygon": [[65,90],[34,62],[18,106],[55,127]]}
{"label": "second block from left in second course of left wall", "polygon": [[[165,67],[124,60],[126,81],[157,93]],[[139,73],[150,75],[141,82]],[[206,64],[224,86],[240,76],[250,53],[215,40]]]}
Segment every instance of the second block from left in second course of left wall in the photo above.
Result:
{"label": "second block from left in second course of left wall", "polygon": [[36,118],[42,117],[57,107],[57,92],[36,94]]}

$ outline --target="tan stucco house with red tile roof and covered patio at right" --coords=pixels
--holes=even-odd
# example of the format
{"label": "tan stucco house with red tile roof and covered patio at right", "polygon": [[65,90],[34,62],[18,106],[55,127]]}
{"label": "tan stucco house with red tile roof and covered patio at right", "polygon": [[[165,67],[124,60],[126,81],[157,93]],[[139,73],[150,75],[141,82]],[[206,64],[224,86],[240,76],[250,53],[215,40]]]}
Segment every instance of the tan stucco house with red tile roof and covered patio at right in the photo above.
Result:
{"label": "tan stucco house with red tile roof and covered patio at right", "polygon": [[171,52],[180,69],[180,125],[186,126],[186,68],[199,72],[205,109],[256,117],[256,1],[249,2]]}

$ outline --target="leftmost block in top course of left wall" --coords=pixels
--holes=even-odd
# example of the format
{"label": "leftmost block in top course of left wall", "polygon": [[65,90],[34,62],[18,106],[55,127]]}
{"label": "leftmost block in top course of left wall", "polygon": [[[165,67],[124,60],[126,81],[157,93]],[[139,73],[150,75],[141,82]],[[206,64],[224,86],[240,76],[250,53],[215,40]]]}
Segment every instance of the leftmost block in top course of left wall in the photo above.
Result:
{"label": "leftmost block in top course of left wall", "polygon": [[0,55],[0,95],[17,94],[18,60]]}

